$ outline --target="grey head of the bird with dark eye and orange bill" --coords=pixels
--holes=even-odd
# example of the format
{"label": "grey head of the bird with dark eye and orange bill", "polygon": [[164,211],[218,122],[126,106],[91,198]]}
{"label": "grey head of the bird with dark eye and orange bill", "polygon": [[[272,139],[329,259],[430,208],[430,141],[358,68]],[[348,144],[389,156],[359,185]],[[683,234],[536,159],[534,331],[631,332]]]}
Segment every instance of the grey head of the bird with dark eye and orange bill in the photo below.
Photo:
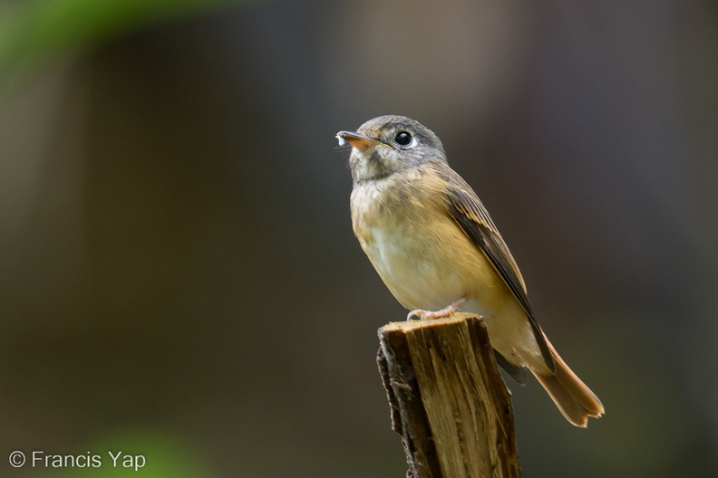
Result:
{"label": "grey head of the bird with dark eye and orange bill", "polygon": [[369,119],[354,131],[339,131],[340,145],[352,145],[349,166],[354,183],[388,177],[426,162],[446,163],[441,140],[431,129],[405,116]]}

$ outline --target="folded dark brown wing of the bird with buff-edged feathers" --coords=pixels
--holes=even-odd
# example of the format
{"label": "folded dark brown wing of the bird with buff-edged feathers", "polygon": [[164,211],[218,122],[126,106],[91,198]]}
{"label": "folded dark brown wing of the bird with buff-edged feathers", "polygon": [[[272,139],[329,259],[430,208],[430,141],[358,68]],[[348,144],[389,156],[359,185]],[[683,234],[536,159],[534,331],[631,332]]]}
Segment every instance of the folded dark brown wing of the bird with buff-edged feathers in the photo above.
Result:
{"label": "folded dark brown wing of the bird with buff-edged feathers", "polygon": [[445,165],[438,166],[439,174],[443,177],[447,184],[446,196],[448,200],[448,211],[451,218],[456,222],[464,234],[469,236],[471,241],[476,244],[479,250],[486,254],[490,263],[501,279],[509,286],[517,301],[521,304],[526,316],[529,318],[531,329],[534,337],[539,343],[541,355],[546,362],[548,368],[555,370],[555,365],[548,344],[544,337],[539,323],[536,321],[529,297],[526,294],[526,285],[524,284],[519,266],[516,264],[513,256],[509,252],[509,247],[504,243],[499,234],[496,225],[491,221],[489,212],[476,193],[473,192],[471,186],[456,174],[450,167]]}

